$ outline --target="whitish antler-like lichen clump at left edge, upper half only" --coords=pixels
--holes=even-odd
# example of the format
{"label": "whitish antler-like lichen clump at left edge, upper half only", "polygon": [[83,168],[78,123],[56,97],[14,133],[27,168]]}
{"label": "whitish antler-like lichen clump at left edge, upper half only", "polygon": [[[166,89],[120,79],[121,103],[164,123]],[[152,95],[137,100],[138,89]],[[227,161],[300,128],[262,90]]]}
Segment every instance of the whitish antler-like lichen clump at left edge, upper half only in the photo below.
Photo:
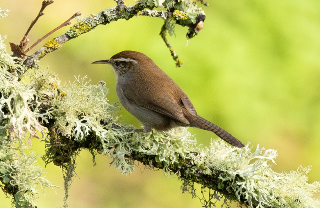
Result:
{"label": "whitish antler-like lichen clump at left edge, upper half only", "polygon": [[[3,39],[0,42],[0,115],[3,121],[6,121],[8,133],[12,141],[18,138],[23,138],[27,132],[31,133],[32,137],[37,137],[36,131],[41,128],[41,125],[36,120],[37,110],[31,111],[28,102],[34,100],[35,90],[26,82],[19,82],[18,77],[13,76],[8,71],[26,71],[23,65],[14,61],[6,53]],[[6,109],[4,112],[1,109]],[[1,126],[0,128],[4,128]]]}

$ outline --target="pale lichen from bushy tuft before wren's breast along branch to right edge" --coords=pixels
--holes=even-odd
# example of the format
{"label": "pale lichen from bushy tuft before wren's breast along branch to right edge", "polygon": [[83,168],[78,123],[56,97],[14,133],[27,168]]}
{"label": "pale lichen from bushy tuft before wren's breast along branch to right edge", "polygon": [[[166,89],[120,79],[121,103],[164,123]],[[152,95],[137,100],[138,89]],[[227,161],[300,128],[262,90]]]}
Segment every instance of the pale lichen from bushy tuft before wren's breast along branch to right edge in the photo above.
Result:
{"label": "pale lichen from bushy tuft before wren's breast along branch to right edge", "polygon": [[[153,156],[154,165],[161,167],[167,176],[177,166],[185,165],[183,159],[188,159],[193,164],[189,166],[189,172],[183,176],[177,172],[178,176],[201,182],[204,187],[211,187],[212,181],[202,178],[206,178],[204,175],[209,178],[219,175],[216,178],[217,189],[209,195],[209,200],[221,200],[225,196],[226,204],[228,200],[239,200],[252,207],[311,208],[320,205],[319,201],[312,198],[319,191],[320,184],[308,183],[308,169],[290,173],[277,173],[271,169],[277,155],[275,150],[264,151],[258,146],[252,152],[252,146],[239,149],[227,146],[222,140],[214,140],[209,147],[200,149],[196,147],[196,139],[185,128],[148,134],[122,130],[130,128],[129,126],[114,128],[111,124],[115,121],[112,116],[115,109],[106,103],[105,90],[103,84],[90,86],[85,79],[76,79],[76,82],[65,89],[65,98],[59,98],[58,103],[55,103],[57,107],[66,106],[64,109],[57,108],[60,114],[55,117],[61,117],[61,121],[57,122],[57,129],[64,136],[80,142],[88,139],[93,131],[100,143],[95,148],[113,158],[111,164],[122,174],[134,171],[134,162],[128,158],[134,152],[141,156]],[[102,107],[104,105],[106,106]],[[105,110],[108,108],[109,110]],[[100,120],[107,120],[109,123],[101,124]],[[69,130],[66,129],[66,122],[72,127]],[[97,141],[92,144],[97,144]],[[197,171],[201,171],[200,178],[194,176]],[[186,183],[186,179],[184,183],[188,187],[183,187],[183,190],[194,193],[193,185]],[[230,190],[230,193],[226,194],[223,190]],[[204,204],[214,202],[206,201]]]}

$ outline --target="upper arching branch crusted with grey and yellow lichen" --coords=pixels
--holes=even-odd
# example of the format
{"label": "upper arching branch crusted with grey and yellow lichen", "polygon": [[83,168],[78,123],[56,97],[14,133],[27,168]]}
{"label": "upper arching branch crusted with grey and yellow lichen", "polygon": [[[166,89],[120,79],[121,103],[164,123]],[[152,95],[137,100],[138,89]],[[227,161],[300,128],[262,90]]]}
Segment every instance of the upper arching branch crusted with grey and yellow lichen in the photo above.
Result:
{"label": "upper arching branch crusted with grey and yellow lichen", "polygon": [[[119,19],[129,20],[134,16],[144,15],[150,17],[159,17],[164,20],[174,21],[176,24],[187,26],[189,28],[187,37],[192,38],[198,34],[199,29],[202,29],[202,24],[205,19],[204,11],[197,7],[196,1],[186,0],[167,0],[150,1],[140,0],[135,5],[129,6],[124,4],[124,1],[117,1],[117,6],[102,10],[97,14],[90,14],[86,18],[79,18],[78,22],[70,27],[65,34],[55,37],[46,42],[39,50],[31,54],[24,61],[26,68],[35,65],[36,61],[43,58],[46,54],[59,50],[60,47],[75,37],[91,31],[98,25],[106,25],[112,21]],[[155,8],[161,9],[154,10]],[[199,24],[201,27],[199,27]],[[171,33],[174,27],[166,28]],[[162,30],[163,31],[163,30]],[[174,59],[176,59],[174,57]],[[177,62],[177,65],[180,61]]]}

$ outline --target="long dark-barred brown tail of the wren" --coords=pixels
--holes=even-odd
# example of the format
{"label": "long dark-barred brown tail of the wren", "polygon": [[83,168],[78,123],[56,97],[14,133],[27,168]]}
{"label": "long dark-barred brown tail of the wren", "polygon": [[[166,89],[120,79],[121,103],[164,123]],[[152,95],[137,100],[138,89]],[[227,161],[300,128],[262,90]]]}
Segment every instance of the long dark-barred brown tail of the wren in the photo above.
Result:
{"label": "long dark-barred brown tail of the wren", "polygon": [[196,116],[194,118],[196,121],[195,123],[192,122],[191,126],[212,131],[215,133],[218,137],[228,142],[230,145],[236,146],[236,147],[244,147],[244,144],[240,142],[236,137],[232,136],[230,133],[228,133],[226,130],[221,129],[219,126],[215,125],[214,123],[211,123],[210,121],[205,120],[204,118],[200,116]]}

